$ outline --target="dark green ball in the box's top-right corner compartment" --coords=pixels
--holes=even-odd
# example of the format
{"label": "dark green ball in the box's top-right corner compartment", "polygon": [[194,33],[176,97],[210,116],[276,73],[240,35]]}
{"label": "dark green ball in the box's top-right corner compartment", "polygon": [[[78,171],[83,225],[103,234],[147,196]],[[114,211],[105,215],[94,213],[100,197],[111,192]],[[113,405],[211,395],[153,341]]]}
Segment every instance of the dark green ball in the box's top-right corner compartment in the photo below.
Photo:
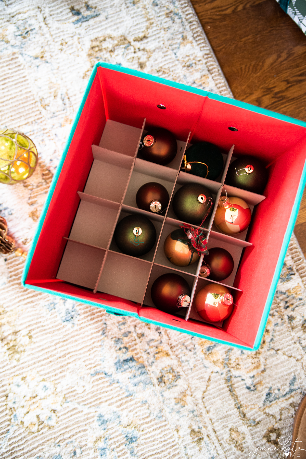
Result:
{"label": "dark green ball in the box's top-right corner compartment", "polygon": [[241,156],[233,161],[226,174],[226,183],[253,193],[262,193],[268,181],[265,165],[253,156]]}

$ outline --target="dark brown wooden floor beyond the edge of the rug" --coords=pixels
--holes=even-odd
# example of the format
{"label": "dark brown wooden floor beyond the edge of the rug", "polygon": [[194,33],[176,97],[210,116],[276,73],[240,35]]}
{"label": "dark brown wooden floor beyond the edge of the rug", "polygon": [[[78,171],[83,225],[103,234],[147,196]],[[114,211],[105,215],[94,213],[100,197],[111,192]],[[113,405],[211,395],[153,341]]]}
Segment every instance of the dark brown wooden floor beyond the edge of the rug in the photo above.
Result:
{"label": "dark brown wooden floor beyond the edge of the rug", "polygon": [[[235,99],[306,121],[306,36],[276,0],[191,0]],[[306,256],[306,191],[295,235]]]}

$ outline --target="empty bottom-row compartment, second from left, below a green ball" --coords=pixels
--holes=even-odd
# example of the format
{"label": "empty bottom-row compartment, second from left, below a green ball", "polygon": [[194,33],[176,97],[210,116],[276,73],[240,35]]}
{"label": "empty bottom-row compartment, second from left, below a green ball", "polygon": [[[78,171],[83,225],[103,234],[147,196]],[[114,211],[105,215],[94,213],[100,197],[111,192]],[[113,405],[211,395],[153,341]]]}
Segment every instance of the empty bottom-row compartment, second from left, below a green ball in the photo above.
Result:
{"label": "empty bottom-row compartment, second from left, below a green ball", "polygon": [[109,251],[97,291],[142,302],[150,273],[150,262]]}

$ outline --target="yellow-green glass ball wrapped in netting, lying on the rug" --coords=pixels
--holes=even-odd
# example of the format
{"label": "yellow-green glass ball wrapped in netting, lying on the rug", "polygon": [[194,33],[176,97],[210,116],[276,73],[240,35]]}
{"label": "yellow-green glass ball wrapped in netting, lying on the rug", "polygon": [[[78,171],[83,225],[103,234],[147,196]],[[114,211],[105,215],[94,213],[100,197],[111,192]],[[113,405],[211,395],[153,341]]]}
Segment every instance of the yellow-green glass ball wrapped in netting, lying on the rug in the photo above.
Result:
{"label": "yellow-green glass ball wrapped in netting, lying on the rug", "polygon": [[0,129],[0,183],[13,185],[28,179],[37,162],[36,146],[27,135]]}

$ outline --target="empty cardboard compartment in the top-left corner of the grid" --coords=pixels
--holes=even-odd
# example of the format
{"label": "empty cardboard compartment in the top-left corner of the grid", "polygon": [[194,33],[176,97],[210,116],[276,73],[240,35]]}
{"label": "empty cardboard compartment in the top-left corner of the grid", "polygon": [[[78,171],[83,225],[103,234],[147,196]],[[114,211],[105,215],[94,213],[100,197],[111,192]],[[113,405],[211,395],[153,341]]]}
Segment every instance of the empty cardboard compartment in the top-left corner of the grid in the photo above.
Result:
{"label": "empty cardboard compartment in the top-left corner of the grid", "polygon": [[99,146],[134,158],[140,133],[139,128],[108,119]]}

